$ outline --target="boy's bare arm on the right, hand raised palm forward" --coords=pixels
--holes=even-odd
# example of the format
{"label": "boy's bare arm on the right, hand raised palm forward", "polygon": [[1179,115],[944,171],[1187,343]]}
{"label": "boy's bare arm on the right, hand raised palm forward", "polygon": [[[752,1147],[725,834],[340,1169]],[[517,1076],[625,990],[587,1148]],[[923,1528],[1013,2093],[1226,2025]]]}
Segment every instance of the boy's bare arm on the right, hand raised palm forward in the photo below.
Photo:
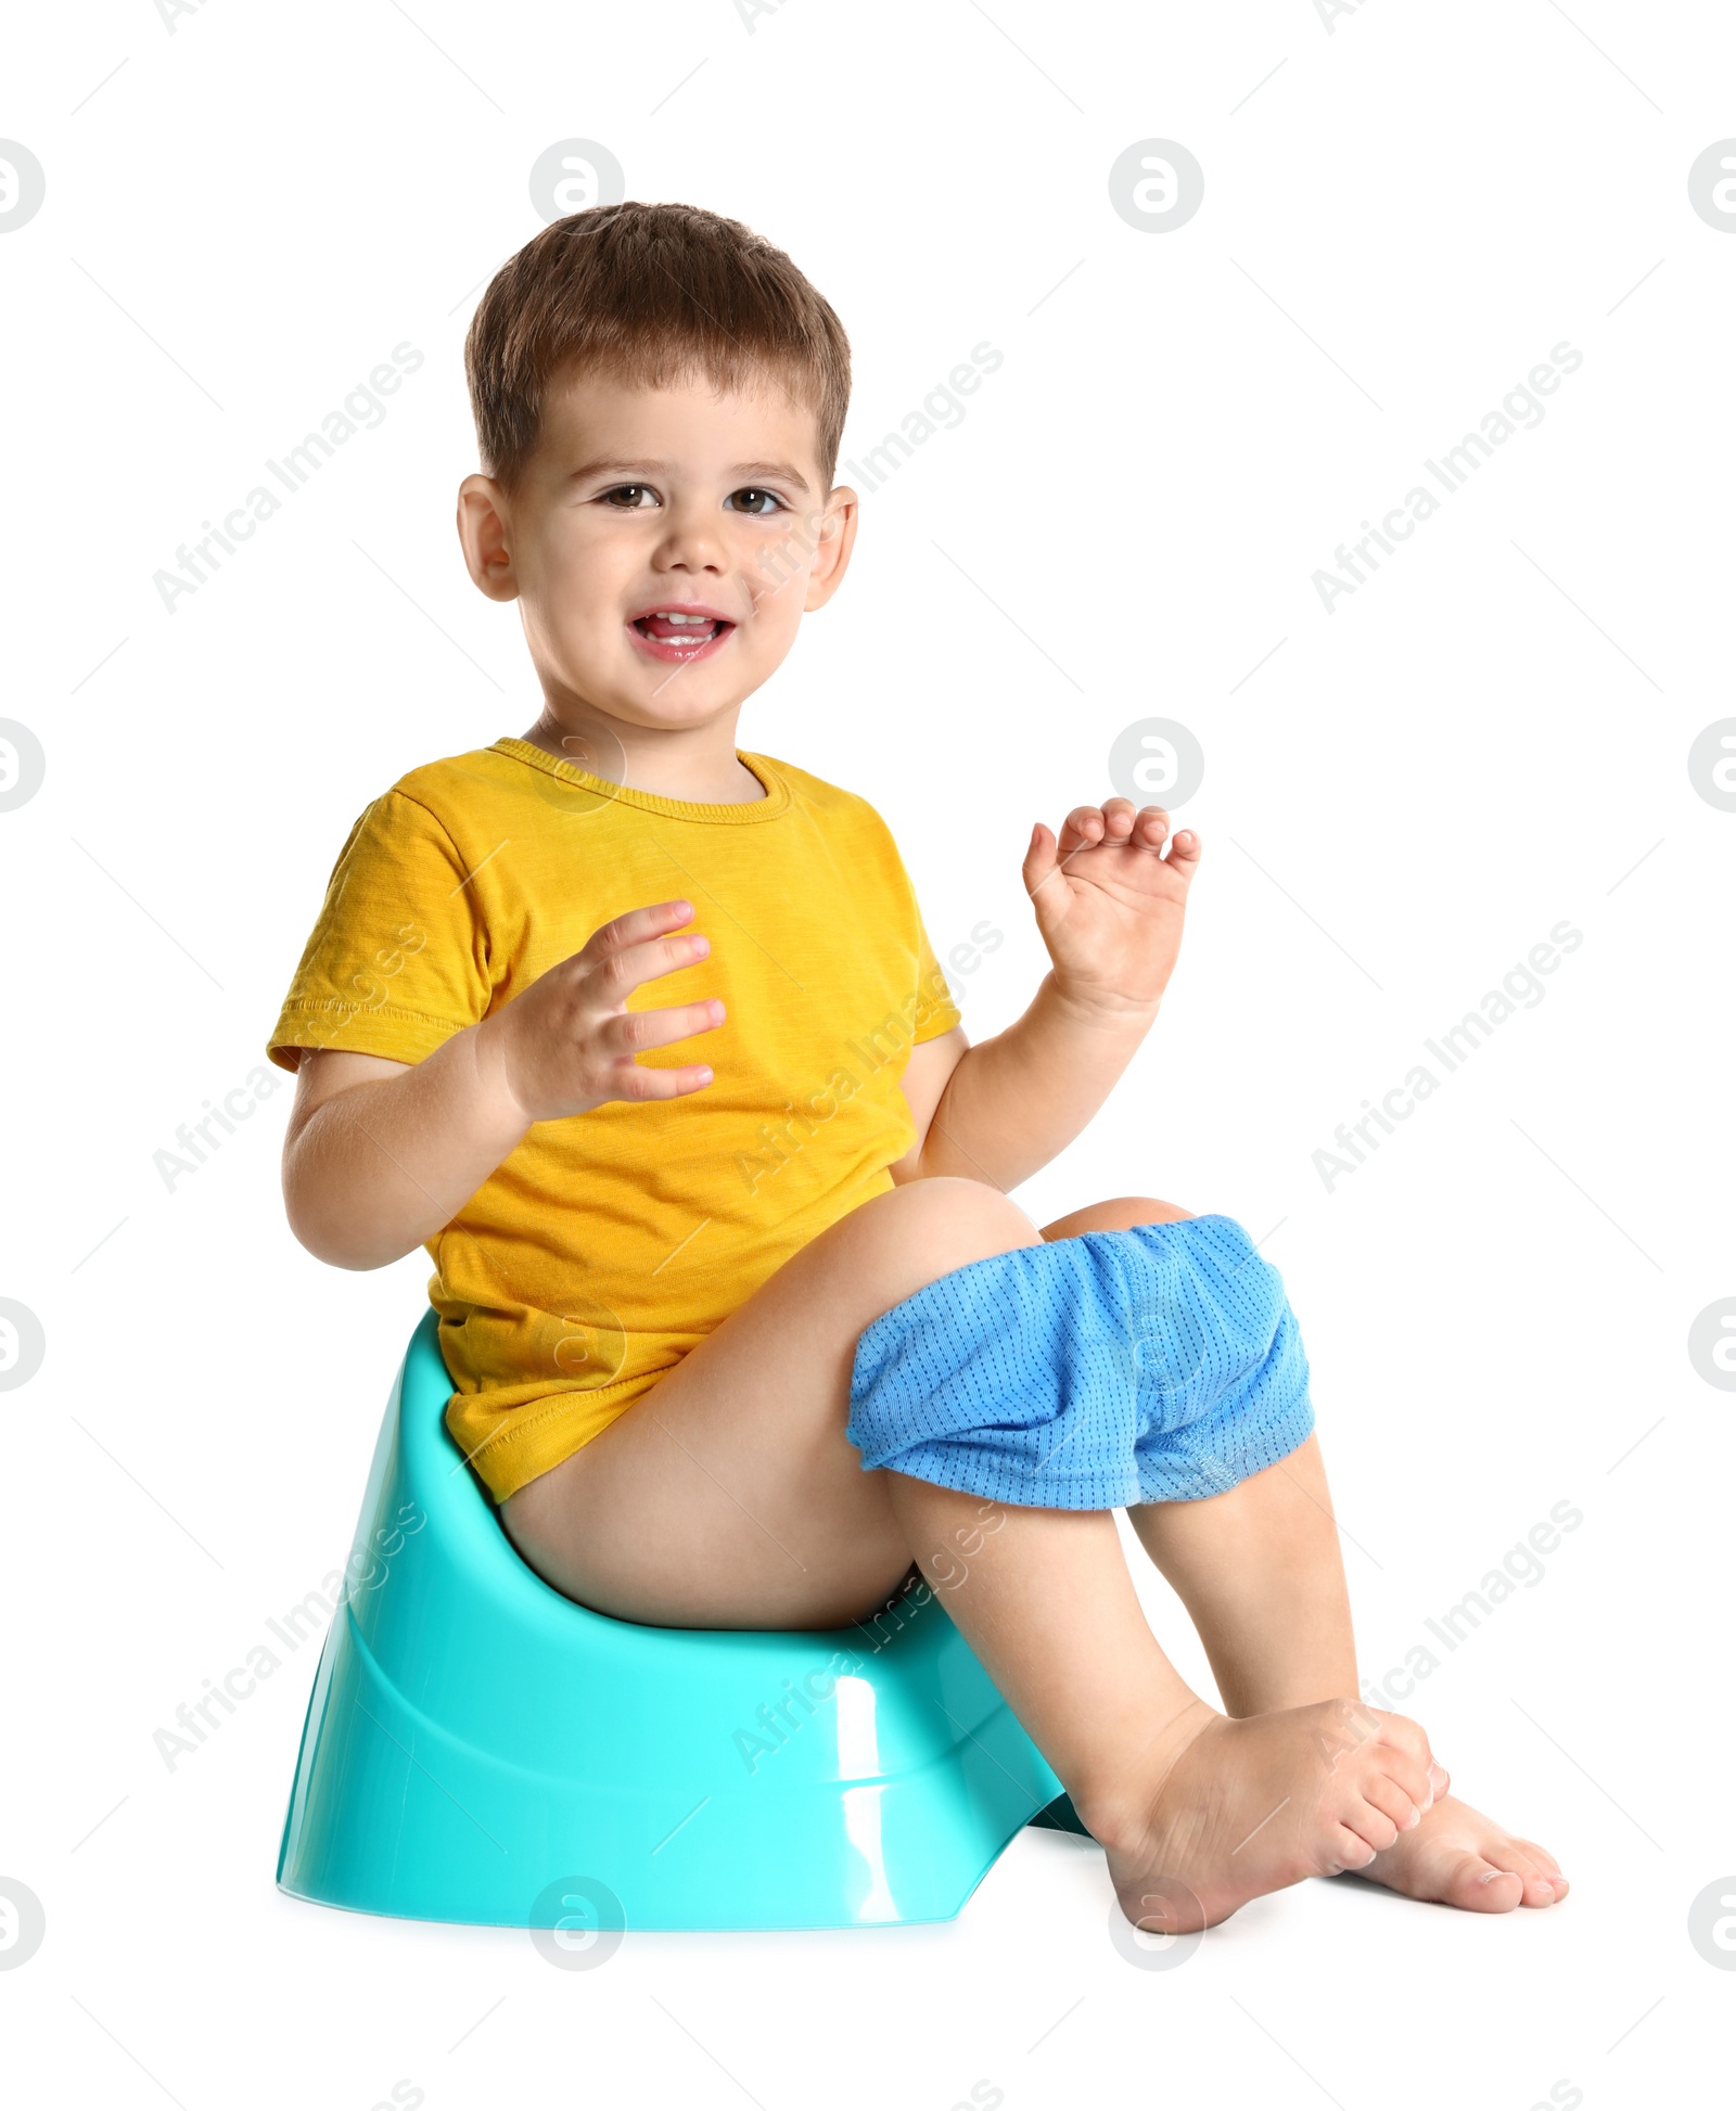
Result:
{"label": "boy's bare arm on the right, hand raised palm forward", "polygon": [[1037,823],[1024,887],[1050,973],[1024,1015],[980,1047],[963,1028],[910,1051],[914,1148],[893,1180],[955,1174],[1009,1191],[1058,1157],[1109,1098],[1151,1030],[1181,948],[1200,838],[1132,800]]}

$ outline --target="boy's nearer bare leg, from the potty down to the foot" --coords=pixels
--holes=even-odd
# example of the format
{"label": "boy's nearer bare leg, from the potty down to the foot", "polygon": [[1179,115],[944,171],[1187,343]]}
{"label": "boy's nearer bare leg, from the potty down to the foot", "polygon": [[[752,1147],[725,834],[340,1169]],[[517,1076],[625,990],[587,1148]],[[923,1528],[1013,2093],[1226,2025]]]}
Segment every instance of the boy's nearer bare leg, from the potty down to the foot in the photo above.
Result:
{"label": "boy's nearer bare leg, from the potty down to the foot", "polygon": [[1005,1195],[971,1180],[874,1197],[596,1442],[513,1495],[507,1533],[579,1602],[663,1625],[845,1625],[914,1556],[1105,1843],[1132,1917],[1153,1885],[1189,1894],[1197,1925],[1305,1875],[1369,1864],[1428,1796],[1413,1723],[1347,1697],[1227,1720],[1151,1634],[1111,1514],[999,1509],[961,1575],[955,1549],[982,1530],[984,1505],[864,1473],[847,1444],[862,1328],[936,1277],[1037,1239]]}

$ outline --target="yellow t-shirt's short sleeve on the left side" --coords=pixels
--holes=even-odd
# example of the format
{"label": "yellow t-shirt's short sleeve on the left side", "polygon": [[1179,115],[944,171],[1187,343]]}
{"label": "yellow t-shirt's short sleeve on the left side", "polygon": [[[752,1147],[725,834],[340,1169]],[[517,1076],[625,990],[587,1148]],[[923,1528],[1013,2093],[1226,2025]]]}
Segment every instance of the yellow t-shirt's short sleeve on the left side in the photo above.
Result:
{"label": "yellow t-shirt's short sleeve on the left side", "polygon": [[266,1053],[302,1049],[416,1064],[488,1015],[488,942],[458,847],[403,792],[361,815],[338,853]]}

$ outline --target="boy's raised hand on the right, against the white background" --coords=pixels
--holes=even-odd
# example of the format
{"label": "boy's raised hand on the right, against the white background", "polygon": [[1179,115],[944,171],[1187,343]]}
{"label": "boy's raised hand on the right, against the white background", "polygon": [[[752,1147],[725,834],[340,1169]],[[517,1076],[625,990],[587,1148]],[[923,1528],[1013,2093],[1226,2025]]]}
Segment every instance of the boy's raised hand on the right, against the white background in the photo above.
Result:
{"label": "boy's raised hand on the right, against the white background", "polygon": [[1157,1005],[1181,950],[1187,889],[1200,868],[1200,838],[1185,828],[1164,838],[1162,806],[1111,798],[1075,806],[1054,836],[1041,821],[1024,853],[1024,889],[1054,961],[1062,994],[1102,1011]]}

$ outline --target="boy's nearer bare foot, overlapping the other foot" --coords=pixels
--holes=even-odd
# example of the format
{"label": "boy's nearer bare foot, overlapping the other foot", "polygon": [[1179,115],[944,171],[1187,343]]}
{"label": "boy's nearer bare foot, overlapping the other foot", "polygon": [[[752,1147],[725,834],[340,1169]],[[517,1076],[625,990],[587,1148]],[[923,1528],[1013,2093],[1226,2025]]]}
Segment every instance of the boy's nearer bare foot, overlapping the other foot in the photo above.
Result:
{"label": "boy's nearer bare foot, overlapping the other foot", "polygon": [[1303,1877],[1371,1868],[1445,1788],[1407,1716],[1335,1699],[1233,1718],[1202,1701],[1149,1782],[1081,1818],[1128,1919],[1187,1934]]}

